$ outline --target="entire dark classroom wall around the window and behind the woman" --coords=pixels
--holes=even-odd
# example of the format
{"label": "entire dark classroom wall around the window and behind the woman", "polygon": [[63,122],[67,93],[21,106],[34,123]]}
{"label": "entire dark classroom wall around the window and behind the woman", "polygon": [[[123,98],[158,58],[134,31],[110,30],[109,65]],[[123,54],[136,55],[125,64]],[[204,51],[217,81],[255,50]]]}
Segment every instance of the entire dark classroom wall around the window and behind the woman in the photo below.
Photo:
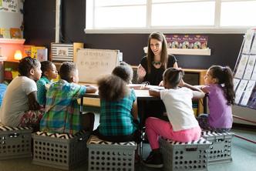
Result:
{"label": "entire dark classroom wall around the window and behind the woman", "polygon": [[[53,0],[25,0],[25,43],[45,45],[55,41],[55,10]],[[123,60],[138,65],[144,55],[149,34],[85,34],[86,1],[62,0],[62,42],[84,42],[86,48],[120,49]],[[171,33],[171,32],[166,32]],[[243,41],[242,34],[207,34],[210,56],[177,55],[182,68],[207,69],[211,65],[229,65],[234,69]],[[256,120],[253,109],[234,106],[234,114]],[[236,121],[237,122],[237,121]]]}

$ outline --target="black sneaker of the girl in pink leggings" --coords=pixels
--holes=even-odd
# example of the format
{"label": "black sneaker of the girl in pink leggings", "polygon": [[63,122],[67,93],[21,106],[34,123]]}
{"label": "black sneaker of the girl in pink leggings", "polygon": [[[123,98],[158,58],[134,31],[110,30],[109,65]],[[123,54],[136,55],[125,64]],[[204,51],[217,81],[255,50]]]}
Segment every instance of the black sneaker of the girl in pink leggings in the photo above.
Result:
{"label": "black sneaker of the girl in pink leggings", "polygon": [[163,158],[161,153],[150,152],[150,156],[146,160],[143,160],[143,165],[153,168],[163,167]]}

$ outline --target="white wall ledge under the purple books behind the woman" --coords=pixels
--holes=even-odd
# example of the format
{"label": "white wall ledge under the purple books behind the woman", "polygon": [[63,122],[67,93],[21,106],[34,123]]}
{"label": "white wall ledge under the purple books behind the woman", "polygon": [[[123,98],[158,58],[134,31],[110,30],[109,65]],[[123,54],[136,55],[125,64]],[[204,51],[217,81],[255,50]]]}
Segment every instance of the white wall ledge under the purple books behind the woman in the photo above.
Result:
{"label": "white wall ledge under the purple books behind the woman", "polygon": [[[147,53],[147,47],[143,48]],[[168,54],[173,55],[211,55],[211,49],[167,49]]]}

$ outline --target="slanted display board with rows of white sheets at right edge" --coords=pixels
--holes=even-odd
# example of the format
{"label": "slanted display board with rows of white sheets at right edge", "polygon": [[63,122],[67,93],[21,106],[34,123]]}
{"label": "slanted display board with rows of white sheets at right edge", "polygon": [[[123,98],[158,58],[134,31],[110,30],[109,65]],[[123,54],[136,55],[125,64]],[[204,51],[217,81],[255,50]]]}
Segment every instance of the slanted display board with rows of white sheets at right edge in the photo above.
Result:
{"label": "slanted display board with rows of white sheets at right edge", "polygon": [[235,104],[256,109],[256,29],[244,35],[234,69]]}

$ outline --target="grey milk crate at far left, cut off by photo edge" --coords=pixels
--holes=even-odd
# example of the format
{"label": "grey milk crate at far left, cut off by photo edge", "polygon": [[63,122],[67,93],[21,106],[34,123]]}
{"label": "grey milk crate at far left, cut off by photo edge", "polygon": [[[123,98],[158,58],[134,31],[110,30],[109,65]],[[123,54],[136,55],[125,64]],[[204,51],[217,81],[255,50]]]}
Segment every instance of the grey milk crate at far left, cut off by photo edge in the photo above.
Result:
{"label": "grey milk crate at far left, cut off by photo edge", "polygon": [[30,127],[0,126],[0,159],[32,157]]}

